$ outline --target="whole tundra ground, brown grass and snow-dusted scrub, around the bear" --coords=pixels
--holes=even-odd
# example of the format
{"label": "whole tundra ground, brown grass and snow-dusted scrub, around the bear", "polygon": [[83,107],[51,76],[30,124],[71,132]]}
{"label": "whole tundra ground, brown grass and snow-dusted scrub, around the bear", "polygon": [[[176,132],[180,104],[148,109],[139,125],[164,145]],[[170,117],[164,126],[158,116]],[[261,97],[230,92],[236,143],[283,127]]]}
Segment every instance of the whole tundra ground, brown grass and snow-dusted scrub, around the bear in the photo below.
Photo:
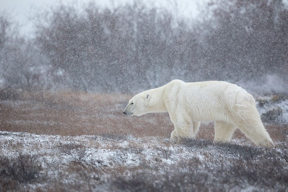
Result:
{"label": "whole tundra ground, brown grass and snow-dusted scrub, around the bear", "polygon": [[255,147],[239,131],[213,144],[213,123],[172,145],[168,114],[127,117],[130,97],[63,92],[1,100],[0,191],[288,190],[287,123],[265,123],[274,149]]}

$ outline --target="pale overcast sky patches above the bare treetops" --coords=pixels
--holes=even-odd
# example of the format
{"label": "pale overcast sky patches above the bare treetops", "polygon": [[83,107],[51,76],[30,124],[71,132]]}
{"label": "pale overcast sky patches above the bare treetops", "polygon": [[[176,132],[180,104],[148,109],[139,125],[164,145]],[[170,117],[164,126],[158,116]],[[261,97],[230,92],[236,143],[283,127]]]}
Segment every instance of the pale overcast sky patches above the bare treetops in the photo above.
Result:
{"label": "pale overcast sky patches above the bare treetops", "polygon": [[[75,2],[80,7],[83,3],[90,1],[95,1],[103,7],[111,5],[111,1],[109,0],[62,0],[61,2],[64,4]],[[126,2],[132,2],[132,0],[114,0],[116,5]],[[195,18],[199,13],[198,4],[201,5],[203,0],[154,0],[153,2],[155,2],[157,6],[165,6],[168,8],[171,8],[172,4],[177,2],[179,13],[186,17]],[[0,0],[0,11],[6,11],[12,15],[12,18],[20,24],[20,33],[29,35],[29,33],[33,31],[33,25],[28,19],[29,16],[39,11],[39,9],[45,9],[58,3],[60,3],[60,0]]]}

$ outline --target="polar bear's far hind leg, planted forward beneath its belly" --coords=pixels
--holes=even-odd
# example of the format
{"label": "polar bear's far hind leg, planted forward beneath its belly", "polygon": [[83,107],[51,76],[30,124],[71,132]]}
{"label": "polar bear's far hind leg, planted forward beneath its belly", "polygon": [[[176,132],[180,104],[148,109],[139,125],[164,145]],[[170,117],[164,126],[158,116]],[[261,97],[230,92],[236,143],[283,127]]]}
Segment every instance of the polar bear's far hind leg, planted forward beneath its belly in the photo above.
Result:
{"label": "polar bear's far hind leg, planted forward beneath its belly", "polygon": [[235,126],[221,121],[215,122],[214,142],[229,141],[234,133]]}

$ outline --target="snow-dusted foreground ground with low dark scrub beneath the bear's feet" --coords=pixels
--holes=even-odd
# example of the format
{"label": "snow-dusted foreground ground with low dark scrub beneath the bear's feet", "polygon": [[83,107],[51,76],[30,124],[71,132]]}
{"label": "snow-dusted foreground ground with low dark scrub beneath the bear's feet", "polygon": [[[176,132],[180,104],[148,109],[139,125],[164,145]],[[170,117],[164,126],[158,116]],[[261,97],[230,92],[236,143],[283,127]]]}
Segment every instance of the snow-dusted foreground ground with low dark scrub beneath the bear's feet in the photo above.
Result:
{"label": "snow-dusted foreground ground with low dark scrub beneath the bear's feet", "polygon": [[0,191],[285,191],[288,136],[275,144],[0,131]]}

